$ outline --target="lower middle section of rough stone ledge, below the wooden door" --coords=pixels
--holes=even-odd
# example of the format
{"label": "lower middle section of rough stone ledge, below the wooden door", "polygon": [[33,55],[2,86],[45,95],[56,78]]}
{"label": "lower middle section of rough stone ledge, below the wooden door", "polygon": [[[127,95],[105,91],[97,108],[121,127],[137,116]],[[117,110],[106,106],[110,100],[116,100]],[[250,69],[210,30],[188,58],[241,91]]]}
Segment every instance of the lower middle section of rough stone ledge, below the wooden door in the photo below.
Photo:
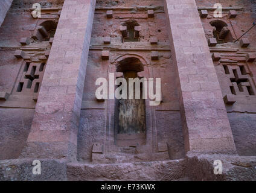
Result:
{"label": "lower middle section of rough stone ledge, below the wooden door", "polygon": [[[184,160],[120,164],[68,164],[68,180],[179,180]],[[90,175],[88,175],[90,174]]]}

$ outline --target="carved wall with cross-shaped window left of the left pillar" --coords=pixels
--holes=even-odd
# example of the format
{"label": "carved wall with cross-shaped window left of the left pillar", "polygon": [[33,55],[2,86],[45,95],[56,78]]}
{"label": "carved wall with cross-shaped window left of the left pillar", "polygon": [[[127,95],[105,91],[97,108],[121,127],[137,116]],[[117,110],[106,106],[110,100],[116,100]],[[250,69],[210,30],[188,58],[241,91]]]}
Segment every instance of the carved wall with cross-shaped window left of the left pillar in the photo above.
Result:
{"label": "carved wall with cross-shaped window left of the left pillar", "polygon": [[18,158],[27,141],[62,9],[61,1],[42,3],[33,18],[32,4],[14,0],[0,28],[0,159]]}

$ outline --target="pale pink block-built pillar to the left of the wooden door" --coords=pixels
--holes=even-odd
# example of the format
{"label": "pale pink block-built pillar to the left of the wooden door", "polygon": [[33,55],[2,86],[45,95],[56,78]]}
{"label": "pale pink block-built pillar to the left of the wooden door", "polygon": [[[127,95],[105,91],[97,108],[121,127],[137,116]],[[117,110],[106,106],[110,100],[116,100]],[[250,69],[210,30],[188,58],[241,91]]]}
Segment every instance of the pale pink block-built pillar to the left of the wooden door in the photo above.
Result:
{"label": "pale pink block-built pillar to the left of the wooden door", "polygon": [[74,160],[96,0],[65,0],[21,157]]}

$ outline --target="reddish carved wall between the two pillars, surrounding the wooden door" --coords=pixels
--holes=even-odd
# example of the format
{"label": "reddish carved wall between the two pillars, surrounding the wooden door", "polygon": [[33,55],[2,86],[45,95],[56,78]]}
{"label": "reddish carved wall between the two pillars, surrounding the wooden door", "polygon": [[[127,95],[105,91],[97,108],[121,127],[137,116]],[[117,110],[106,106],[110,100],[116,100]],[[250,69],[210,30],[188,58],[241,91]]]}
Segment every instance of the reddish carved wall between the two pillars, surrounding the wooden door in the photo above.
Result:
{"label": "reddish carved wall between the two pillars, surrounding the wooden door", "polygon": [[[78,131],[78,160],[117,163],[181,158],[184,156],[184,139],[164,1],[113,3],[97,1],[95,8]],[[135,30],[129,31],[130,27]],[[126,41],[130,33],[135,33],[138,39]],[[107,44],[106,38],[109,40]],[[101,59],[103,51],[109,51],[107,60]],[[146,143],[125,147],[118,139],[125,144],[135,136],[126,134],[117,138],[117,100],[97,101],[95,81],[100,77],[109,81],[109,73],[119,73],[117,66],[120,62],[132,58],[142,63],[144,77],[161,78],[162,102],[153,107],[149,106],[149,100],[145,100]],[[125,65],[129,66],[129,62]],[[98,146],[100,152],[95,151]]]}

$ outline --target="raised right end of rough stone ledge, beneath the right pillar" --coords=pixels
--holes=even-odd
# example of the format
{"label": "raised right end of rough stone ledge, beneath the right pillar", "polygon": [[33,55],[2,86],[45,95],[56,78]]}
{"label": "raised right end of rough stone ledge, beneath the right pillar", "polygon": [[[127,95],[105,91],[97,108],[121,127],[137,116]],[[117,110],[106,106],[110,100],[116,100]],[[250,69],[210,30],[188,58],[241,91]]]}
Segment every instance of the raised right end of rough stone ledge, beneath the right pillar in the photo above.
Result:
{"label": "raised right end of rough stone ledge, beneath the right pillar", "polygon": [[[222,161],[222,175],[213,174],[214,160]],[[185,176],[191,180],[256,180],[255,156],[238,156],[227,154],[197,154],[190,152],[187,154],[185,162],[187,165]]]}

